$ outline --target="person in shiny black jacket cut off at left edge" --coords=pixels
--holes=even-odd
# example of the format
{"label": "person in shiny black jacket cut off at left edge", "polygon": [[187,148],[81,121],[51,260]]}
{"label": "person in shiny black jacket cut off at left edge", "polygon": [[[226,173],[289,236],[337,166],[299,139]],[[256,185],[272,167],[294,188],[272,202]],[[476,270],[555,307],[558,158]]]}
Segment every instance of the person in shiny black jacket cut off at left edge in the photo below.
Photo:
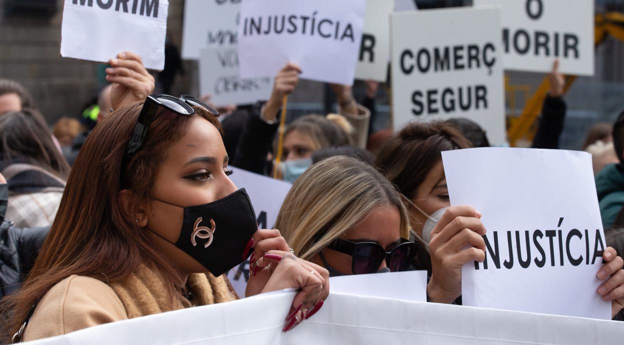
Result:
{"label": "person in shiny black jacket cut off at left edge", "polygon": [[9,186],[0,174],[0,298],[19,289],[31,271],[50,227],[18,229],[4,219]]}

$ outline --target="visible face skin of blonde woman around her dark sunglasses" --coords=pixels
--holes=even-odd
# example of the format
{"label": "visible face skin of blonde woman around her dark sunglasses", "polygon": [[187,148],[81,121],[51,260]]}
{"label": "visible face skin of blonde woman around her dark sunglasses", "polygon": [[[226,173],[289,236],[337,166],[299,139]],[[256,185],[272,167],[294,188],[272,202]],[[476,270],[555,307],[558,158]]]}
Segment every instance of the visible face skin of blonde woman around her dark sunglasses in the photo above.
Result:
{"label": "visible face skin of blonde woman around her dark sunglasses", "polygon": [[[352,242],[377,242],[386,251],[390,251],[392,247],[401,241],[401,214],[399,213],[399,208],[394,205],[374,208],[364,218],[364,221],[341,238]],[[329,266],[336,271],[343,274],[353,274],[351,269],[352,259],[348,254],[334,251],[333,249],[323,249],[323,256]],[[312,261],[324,266],[318,254],[313,257]],[[378,270],[386,267],[388,265],[384,259]]]}

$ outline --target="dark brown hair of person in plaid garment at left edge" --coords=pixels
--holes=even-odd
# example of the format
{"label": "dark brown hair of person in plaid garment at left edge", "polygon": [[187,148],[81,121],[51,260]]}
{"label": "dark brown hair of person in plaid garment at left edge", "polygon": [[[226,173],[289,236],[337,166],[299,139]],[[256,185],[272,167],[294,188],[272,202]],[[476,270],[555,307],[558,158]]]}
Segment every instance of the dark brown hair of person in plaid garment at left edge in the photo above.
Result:
{"label": "dark brown hair of person in plaid garment at left edge", "polygon": [[69,164],[52,141],[46,121],[34,109],[0,116],[0,154],[3,161],[32,164],[61,179],[69,174]]}

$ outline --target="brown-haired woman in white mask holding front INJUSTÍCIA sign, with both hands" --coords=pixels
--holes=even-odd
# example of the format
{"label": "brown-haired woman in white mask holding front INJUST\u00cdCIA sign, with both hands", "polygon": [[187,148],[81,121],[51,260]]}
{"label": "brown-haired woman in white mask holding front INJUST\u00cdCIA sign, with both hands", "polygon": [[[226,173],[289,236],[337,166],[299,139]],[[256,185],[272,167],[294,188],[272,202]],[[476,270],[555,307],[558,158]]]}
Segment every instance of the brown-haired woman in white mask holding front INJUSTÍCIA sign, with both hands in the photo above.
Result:
{"label": "brown-haired woman in white mask holding front INJUST\u00cdCIA sign, with both hands", "polygon": [[[482,236],[486,230],[481,214],[469,206],[451,207],[442,166],[442,151],[469,147],[467,139],[450,124],[410,123],[389,141],[377,160],[409,205],[412,229],[429,244],[429,285],[441,287],[427,286],[432,301],[457,299],[462,291],[462,266],[485,259]],[[604,282],[597,293],[603,300],[612,301],[612,316],[616,316],[624,308],[624,261],[612,247],[605,249],[603,259],[607,263],[597,277]]]}

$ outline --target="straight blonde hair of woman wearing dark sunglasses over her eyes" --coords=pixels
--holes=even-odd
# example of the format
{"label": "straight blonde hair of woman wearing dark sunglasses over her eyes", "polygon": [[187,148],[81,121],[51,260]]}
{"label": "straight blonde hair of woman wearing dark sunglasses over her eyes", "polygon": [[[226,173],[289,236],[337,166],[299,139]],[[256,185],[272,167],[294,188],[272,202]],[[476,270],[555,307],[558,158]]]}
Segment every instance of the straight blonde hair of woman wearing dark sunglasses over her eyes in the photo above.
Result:
{"label": "straight blonde hair of woman wearing dark sunglasses over her eyes", "polygon": [[297,255],[310,260],[358,226],[375,207],[396,206],[399,234],[409,239],[409,218],[399,193],[373,166],[336,156],[314,164],[293,184],[275,227]]}

